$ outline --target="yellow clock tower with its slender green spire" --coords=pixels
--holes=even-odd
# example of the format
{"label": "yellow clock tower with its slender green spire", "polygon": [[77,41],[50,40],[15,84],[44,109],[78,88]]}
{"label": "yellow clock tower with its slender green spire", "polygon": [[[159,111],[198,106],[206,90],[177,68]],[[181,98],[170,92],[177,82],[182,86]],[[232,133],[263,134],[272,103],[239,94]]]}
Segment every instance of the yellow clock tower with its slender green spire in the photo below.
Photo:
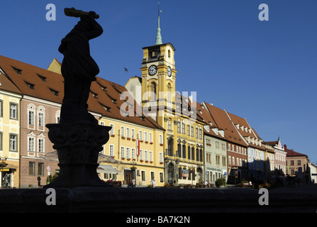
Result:
{"label": "yellow clock tower with its slender green spire", "polygon": [[175,104],[175,48],[172,43],[162,43],[160,10],[156,42],[143,48],[142,107],[157,123],[164,127],[164,117],[172,114]]}

